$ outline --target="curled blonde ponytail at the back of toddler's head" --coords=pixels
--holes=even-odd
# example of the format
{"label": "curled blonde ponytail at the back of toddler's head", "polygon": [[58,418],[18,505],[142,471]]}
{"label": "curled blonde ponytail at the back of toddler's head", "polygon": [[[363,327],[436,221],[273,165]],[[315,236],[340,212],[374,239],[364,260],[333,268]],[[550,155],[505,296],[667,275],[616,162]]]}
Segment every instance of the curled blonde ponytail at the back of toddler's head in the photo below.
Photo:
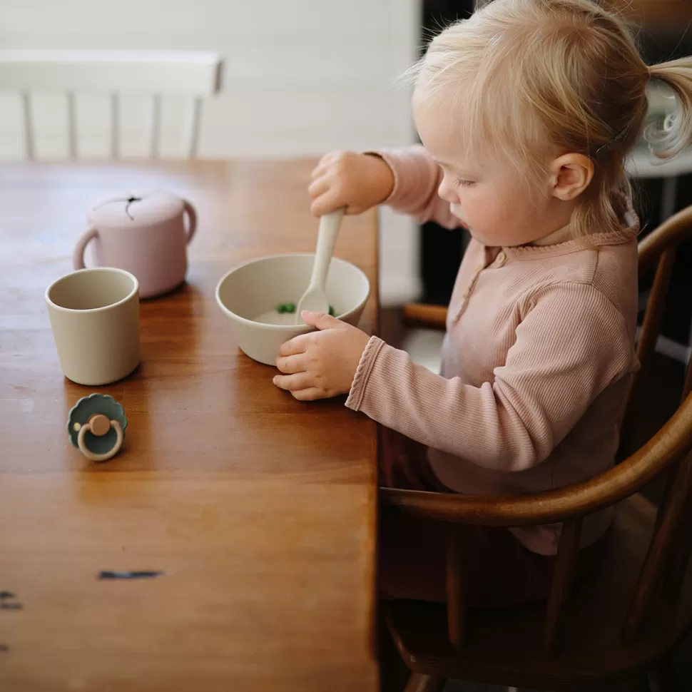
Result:
{"label": "curled blonde ponytail at the back of toddler's head", "polygon": [[692,58],[653,65],[649,77],[666,83],[678,103],[675,113],[663,123],[648,126],[644,132],[658,158],[671,158],[692,146]]}

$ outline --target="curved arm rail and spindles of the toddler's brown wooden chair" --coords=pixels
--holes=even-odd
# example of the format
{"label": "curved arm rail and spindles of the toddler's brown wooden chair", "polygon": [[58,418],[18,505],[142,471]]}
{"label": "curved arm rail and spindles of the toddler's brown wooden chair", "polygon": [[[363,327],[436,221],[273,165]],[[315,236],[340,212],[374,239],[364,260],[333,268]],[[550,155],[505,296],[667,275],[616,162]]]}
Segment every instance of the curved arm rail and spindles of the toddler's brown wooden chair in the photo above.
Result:
{"label": "curved arm rail and spindles of the toddler's brown wooden chair", "polygon": [[[692,240],[692,207],[666,220],[639,245],[640,275],[655,272],[637,345],[642,370],[651,364],[661,330],[676,250],[688,240]],[[433,317],[437,321],[440,316]],[[641,377],[631,390],[624,430],[634,424],[636,400],[642,394],[640,384]],[[692,553],[691,390],[692,361],[686,370],[683,403],[676,414],[629,458],[588,482],[533,495],[495,498],[383,489],[384,502],[416,517],[451,524],[512,527],[562,522],[543,636],[544,650],[553,653],[570,601],[584,517],[618,504],[658,474],[669,472],[666,497],[658,510],[656,527],[623,624],[624,639],[634,639],[654,599],[659,595],[666,601],[678,599]],[[466,606],[460,586],[463,555],[456,534],[452,527],[447,551],[447,627],[450,643],[460,646]]]}

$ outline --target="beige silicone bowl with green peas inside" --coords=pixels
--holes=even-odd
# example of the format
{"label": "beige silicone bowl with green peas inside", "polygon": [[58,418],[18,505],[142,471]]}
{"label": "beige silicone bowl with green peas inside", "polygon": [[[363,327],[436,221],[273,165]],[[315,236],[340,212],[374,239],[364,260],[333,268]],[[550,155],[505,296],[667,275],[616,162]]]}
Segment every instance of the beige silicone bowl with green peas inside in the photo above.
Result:
{"label": "beige silicone bowl with green peas inside", "polygon": [[[240,350],[253,360],[275,365],[279,347],[299,334],[313,331],[307,325],[265,325],[253,321],[280,303],[296,305],[310,283],[314,254],[273,255],[230,270],[216,287],[216,302],[230,317]],[[340,320],[357,325],[370,295],[370,282],[362,271],[345,260],[332,258],[327,276],[327,298]]]}

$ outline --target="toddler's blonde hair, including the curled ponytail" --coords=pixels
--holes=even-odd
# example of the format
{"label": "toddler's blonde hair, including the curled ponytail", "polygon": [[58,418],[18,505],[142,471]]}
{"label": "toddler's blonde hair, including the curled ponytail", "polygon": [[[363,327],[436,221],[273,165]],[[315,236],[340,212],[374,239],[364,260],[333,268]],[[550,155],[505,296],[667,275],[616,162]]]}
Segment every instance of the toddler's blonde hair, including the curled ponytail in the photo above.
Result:
{"label": "toddler's blonde hair, including the curled ponytail", "polygon": [[641,138],[651,79],[671,87],[677,111],[648,128],[669,158],[692,145],[692,58],[649,68],[629,26],[594,0],[494,0],[444,29],[407,73],[414,101],[454,99],[459,137],[490,144],[519,171],[545,170],[550,151],[582,153],[594,180],[574,211],[574,235],[621,231],[614,190]]}

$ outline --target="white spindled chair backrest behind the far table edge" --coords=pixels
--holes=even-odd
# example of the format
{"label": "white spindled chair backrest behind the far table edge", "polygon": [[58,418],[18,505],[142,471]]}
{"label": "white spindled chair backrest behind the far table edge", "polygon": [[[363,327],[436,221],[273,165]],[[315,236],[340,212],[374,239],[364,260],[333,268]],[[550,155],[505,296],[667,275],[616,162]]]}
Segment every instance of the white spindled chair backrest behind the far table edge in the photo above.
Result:
{"label": "white spindled chair backrest behind the far table edge", "polygon": [[[13,129],[28,160],[41,155],[42,126],[66,144],[68,158],[80,158],[81,141],[86,133],[93,135],[93,121],[103,121],[104,111],[109,127],[101,134],[108,140],[103,147],[108,158],[121,156],[125,130],[137,131],[139,143],[144,131],[138,158],[158,158],[165,100],[171,98],[186,106],[176,156],[187,158],[197,154],[203,99],[218,91],[221,64],[220,56],[208,52],[4,50],[0,92],[16,98]],[[51,113],[44,112],[42,98],[51,98]],[[64,128],[56,128],[56,121]]]}

